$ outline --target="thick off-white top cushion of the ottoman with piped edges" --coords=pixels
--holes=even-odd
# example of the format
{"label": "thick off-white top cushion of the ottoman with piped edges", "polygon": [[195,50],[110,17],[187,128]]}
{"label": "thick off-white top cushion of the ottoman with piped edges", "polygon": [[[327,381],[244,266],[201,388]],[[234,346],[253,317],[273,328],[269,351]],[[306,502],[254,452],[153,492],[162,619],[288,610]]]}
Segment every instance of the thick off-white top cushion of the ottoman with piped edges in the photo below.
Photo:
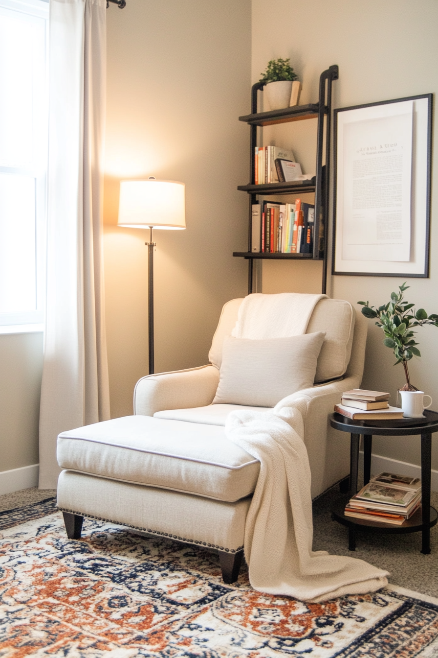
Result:
{"label": "thick off-white top cushion of the ottoman with piped edges", "polygon": [[57,457],[68,470],[226,502],[253,493],[260,468],[222,426],[149,416],[62,432]]}

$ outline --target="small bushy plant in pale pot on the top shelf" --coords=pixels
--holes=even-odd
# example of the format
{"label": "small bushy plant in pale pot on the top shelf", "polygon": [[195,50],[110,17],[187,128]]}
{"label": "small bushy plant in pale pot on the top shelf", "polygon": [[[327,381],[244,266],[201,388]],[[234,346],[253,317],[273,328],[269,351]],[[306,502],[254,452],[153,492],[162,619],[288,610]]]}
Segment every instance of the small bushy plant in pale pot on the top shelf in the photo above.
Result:
{"label": "small bushy plant in pale pot on the top shelf", "polygon": [[[265,91],[271,110],[281,110],[290,105],[297,105],[300,83],[297,74],[289,64],[288,59],[271,59],[266,70],[261,74],[259,82],[265,83]],[[294,82],[296,81],[296,82]],[[292,94],[292,86],[295,84],[296,93]],[[294,95],[294,99],[291,96]]]}

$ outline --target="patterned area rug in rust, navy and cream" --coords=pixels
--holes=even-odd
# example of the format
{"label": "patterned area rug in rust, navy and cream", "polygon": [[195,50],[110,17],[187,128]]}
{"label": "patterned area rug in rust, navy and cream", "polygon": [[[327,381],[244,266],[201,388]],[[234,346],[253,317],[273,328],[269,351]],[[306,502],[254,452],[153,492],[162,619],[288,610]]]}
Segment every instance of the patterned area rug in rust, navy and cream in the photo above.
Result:
{"label": "patterned area rug in rust, navy and cream", "polygon": [[202,547],[93,520],[68,540],[53,505],[0,515],[2,658],[438,656],[435,599],[394,587],[318,604],[259,594],[244,570],[223,584]]}

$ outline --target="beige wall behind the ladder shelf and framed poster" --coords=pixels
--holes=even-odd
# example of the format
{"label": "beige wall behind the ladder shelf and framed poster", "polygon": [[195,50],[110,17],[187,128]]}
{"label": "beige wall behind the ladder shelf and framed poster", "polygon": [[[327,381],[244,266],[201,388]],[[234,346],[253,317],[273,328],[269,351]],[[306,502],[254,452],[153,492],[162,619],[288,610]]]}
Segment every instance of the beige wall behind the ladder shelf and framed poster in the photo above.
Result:
{"label": "beige wall behind the ladder shelf and framed poster", "polygon": [[[318,77],[330,64],[339,65],[334,83],[334,107],[372,103],[420,93],[438,91],[438,4],[436,0],[253,0],[252,2],[252,81],[259,78],[269,59],[290,57],[303,81],[301,103],[318,99]],[[436,113],[436,110],[435,110]],[[312,122],[304,124],[307,133]],[[305,139],[311,136],[306,133]],[[265,135],[265,138],[268,136]],[[284,136],[286,139],[286,135]],[[292,147],[303,152],[299,141]],[[300,157],[304,157],[300,155]],[[433,160],[436,163],[437,153]],[[311,163],[307,162],[307,166]],[[433,190],[437,189],[437,166],[433,167]],[[437,205],[431,212],[431,276],[408,279],[406,297],[428,313],[438,313]],[[318,264],[267,263],[263,270],[263,290],[313,291],[320,285]],[[303,269],[305,268],[305,269]],[[308,273],[309,272],[309,273]],[[369,299],[380,305],[403,282],[401,277],[330,277],[328,293],[355,304]],[[393,367],[391,351],[382,345],[382,333],[370,322],[364,380],[366,388],[391,392],[403,385],[401,366]],[[438,330],[425,327],[418,332],[423,357],[410,361],[412,382],[430,393],[433,409],[438,409]],[[393,459],[420,463],[418,438],[374,440],[376,453]],[[437,438],[433,439],[433,468],[438,468]]]}

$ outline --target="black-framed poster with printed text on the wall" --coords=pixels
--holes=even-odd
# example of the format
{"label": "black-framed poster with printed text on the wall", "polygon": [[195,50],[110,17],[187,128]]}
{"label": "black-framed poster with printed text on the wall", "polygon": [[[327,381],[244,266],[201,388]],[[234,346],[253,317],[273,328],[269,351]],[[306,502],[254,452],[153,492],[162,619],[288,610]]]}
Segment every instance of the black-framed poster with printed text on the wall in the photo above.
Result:
{"label": "black-framed poster with printed text on the wall", "polygon": [[334,111],[332,273],[429,276],[432,94]]}

